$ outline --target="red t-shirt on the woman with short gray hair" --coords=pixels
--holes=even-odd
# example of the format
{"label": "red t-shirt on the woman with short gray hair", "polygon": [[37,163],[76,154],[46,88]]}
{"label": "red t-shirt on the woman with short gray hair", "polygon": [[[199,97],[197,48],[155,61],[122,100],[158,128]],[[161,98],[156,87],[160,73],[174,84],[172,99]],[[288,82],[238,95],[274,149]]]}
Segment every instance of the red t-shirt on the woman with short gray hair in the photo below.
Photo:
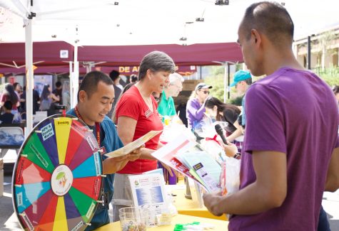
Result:
{"label": "red t-shirt on the woman with short gray hair", "polygon": [[[136,86],[132,86],[122,95],[118,104],[116,104],[116,122],[118,121],[118,117],[131,117],[137,121],[133,141],[148,133],[148,131],[163,130],[163,124],[161,123],[161,119],[156,109],[156,100],[154,100],[153,96],[151,96],[151,99],[153,112],[148,109],[148,106],[146,102],[143,101],[138,88],[136,88]],[[117,125],[123,127],[123,124]],[[146,142],[146,148],[156,150],[158,148],[160,135],[161,134],[158,134],[157,136],[154,136],[153,139]],[[154,169],[156,169],[156,161],[138,159],[136,161],[128,162],[121,171],[118,171],[118,173],[138,174]]]}

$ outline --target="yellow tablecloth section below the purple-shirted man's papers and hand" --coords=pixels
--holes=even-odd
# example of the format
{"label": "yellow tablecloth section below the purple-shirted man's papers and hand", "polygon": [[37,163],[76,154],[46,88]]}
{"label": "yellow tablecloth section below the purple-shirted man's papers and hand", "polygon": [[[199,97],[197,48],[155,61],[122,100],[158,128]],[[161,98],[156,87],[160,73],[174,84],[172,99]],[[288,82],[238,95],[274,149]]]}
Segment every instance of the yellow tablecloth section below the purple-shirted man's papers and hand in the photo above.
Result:
{"label": "yellow tablecloth section below the purple-shirted man's papers and hand", "polygon": [[196,217],[206,217],[217,220],[227,220],[226,215],[216,217],[215,215],[210,213],[205,206],[203,206],[203,208],[198,208],[198,204],[196,202],[185,198],[184,189],[175,189],[172,190],[172,193],[176,195],[174,197],[174,205],[176,206],[176,210],[178,210],[179,214],[191,215]]}

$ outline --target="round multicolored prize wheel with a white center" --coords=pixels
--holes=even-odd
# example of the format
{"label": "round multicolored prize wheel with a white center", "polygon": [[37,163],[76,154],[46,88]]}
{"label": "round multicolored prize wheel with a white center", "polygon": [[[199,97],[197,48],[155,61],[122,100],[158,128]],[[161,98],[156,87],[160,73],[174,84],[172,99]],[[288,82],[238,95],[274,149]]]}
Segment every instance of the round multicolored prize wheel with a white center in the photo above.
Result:
{"label": "round multicolored prize wheel with a white center", "polygon": [[101,155],[80,119],[54,115],[21,146],[13,205],[24,230],[84,230],[101,200]]}

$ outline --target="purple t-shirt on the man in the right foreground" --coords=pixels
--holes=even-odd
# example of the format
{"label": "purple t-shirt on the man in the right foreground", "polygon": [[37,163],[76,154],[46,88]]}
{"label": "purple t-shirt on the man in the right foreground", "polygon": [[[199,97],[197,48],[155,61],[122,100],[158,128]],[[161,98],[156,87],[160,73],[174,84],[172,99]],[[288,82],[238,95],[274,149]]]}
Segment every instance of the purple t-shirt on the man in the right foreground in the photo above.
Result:
{"label": "purple t-shirt on the man in the right foreground", "polygon": [[280,151],[287,155],[288,192],[280,208],[236,215],[228,230],[316,230],[338,142],[338,106],[318,76],[281,68],[255,82],[246,93],[240,188],[255,181],[252,151]]}

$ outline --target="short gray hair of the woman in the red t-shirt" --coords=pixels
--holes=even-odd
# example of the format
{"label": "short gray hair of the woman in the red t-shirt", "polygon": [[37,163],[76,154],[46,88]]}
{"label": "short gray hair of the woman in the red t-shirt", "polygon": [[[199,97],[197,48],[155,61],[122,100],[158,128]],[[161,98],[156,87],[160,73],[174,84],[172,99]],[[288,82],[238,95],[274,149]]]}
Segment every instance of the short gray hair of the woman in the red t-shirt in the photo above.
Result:
{"label": "short gray hair of the woman in the red t-shirt", "polygon": [[146,76],[147,70],[153,72],[166,71],[166,72],[175,72],[176,65],[174,65],[173,59],[169,57],[166,53],[161,51],[153,51],[148,53],[141,60],[139,68],[139,80],[142,80]]}

